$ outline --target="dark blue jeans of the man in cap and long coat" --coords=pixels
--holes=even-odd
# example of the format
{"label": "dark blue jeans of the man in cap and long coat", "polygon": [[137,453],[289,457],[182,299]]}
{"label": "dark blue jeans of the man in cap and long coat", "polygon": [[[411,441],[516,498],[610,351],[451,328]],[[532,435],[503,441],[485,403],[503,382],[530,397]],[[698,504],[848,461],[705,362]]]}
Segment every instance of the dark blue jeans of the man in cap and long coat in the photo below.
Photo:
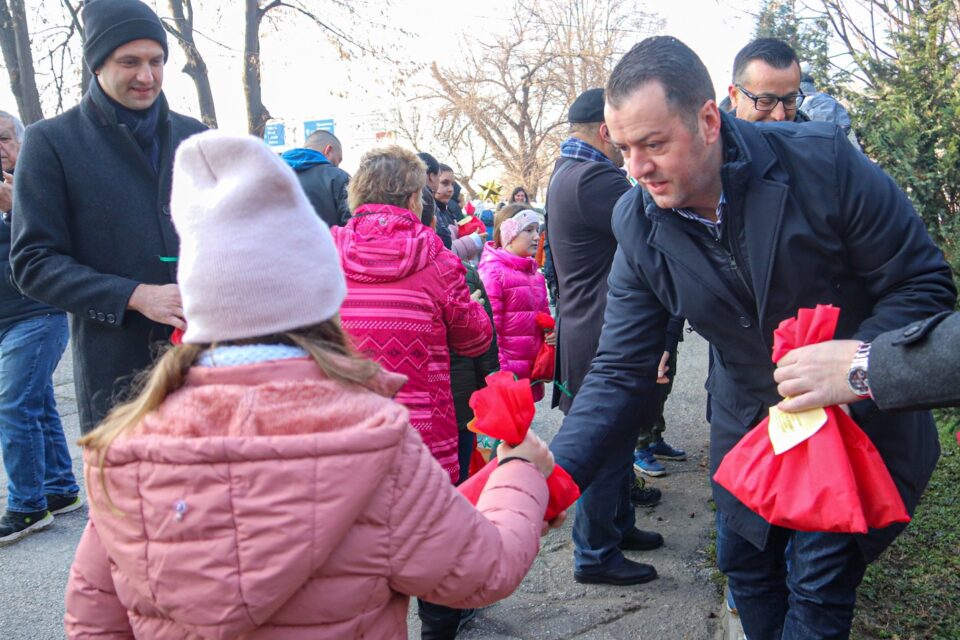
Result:
{"label": "dark blue jeans of the man in cap and long coat", "polygon": [[610,456],[577,501],[573,568],[578,573],[603,573],[623,562],[620,540],[636,523],[630,503],[635,478],[632,454],[627,449]]}

